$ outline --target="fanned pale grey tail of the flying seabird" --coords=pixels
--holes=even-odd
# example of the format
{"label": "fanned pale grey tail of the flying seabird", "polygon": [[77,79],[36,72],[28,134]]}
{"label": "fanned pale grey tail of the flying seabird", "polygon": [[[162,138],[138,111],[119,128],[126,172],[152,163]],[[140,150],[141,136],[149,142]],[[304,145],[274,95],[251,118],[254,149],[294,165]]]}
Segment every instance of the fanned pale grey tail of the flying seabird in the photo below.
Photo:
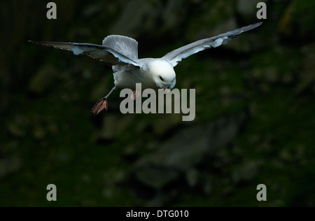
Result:
{"label": "fanned pale grey tail of the flying seabird", "polygon": [[131,59],[138,59],[138,42],[134,38],[110,35],[104,38],[103,45],[109,46]]}

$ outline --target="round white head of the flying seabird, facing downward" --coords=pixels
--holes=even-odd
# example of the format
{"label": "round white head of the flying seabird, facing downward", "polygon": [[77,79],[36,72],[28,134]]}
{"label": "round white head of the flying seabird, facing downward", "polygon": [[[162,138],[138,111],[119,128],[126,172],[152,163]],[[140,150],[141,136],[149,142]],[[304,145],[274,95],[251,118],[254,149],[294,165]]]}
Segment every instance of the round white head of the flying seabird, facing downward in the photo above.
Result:
{"label": "round white head of the flying seabird, facing downward", "polygon": [[172,90],[176,84],[173,66],[162,59],[155,59],[148,65],[153,80],[158,88]]}

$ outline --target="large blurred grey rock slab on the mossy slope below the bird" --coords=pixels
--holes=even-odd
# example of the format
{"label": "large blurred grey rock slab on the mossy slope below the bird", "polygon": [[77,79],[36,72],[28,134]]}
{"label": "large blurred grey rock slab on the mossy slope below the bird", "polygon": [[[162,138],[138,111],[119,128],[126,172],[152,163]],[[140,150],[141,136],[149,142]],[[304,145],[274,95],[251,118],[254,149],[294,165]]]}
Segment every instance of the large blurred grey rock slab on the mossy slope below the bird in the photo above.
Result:
{"label": "large blurred grey rock slab on the mossy slope below the bird", "polygon": [[[155,152],[136,162],[135,177],[154,189],[165,187],[200,163],[206,155],[213,154],[218,148],[232,141],[245,117],[244,113],[240,113],[180,129],[174,136],[158,145]],[[188,182],[193,185],[196,179],[190,179]]]}

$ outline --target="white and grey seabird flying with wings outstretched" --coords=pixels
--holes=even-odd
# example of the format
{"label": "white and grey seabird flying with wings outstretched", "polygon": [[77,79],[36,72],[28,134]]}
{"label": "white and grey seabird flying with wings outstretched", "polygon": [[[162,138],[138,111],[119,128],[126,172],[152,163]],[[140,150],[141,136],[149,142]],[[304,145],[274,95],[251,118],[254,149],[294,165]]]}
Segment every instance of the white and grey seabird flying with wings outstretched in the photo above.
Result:
{"label": "white and grey seabird flying with wings outstretched", "polygon": [[246,27],[228,31],[212,38],[204,38],[181,48],[177,48],[161,58],[138,58],[138,42],[127,36],[111,35],[104,38],[102,45],[90,43],[64,43],[50,41],[29,41],[40,45],[52,46],[62,50],[70,50],[74,55],[87,55],[101,62],[105,62],[113,68],[115,86],[102,99],[94,104],[91,112],[97,115],[103,109],[108,109],[109,95],[116,88],[130,88],[134,90],[136,97],[136,83],[141,83],[141,88],[159,88],[169,92],[176,84],[174,66],[182,59],[189,57],[207,48],[216,48],[225,45],[244,31],[258,27],[262,22],[250,24]]}

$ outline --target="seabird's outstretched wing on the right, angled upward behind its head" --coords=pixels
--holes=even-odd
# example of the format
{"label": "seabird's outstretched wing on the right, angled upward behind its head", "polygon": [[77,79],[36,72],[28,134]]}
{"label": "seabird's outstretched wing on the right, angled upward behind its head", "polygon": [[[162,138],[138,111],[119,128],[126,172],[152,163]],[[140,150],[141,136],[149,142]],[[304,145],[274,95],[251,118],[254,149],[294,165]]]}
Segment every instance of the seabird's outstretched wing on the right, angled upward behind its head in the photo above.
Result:
{"label": "seabird's outstretched wing on the right, angled upward behind its head", "polygon": [[225,45],[233,38],[237,38],[239,34],[243,33],[244,31],[249,31],[258,27],[262,24],[262,22],[250,24],[246,27],[241,27],[239,29],[235,29],[234,31],[228,31],[225,34],[220,34],[218,36],[214,36],[212,38],[205,38],[200,41],[195,41],[190,43],[189,45],[185,45],[181,48],[177,48],[172,52],[167,53],[163,59],[166,59],[172,66],[176,66],[182,59],[189,57],[197,52],[205,50],[207,48],[216,48],[220,45]]}

